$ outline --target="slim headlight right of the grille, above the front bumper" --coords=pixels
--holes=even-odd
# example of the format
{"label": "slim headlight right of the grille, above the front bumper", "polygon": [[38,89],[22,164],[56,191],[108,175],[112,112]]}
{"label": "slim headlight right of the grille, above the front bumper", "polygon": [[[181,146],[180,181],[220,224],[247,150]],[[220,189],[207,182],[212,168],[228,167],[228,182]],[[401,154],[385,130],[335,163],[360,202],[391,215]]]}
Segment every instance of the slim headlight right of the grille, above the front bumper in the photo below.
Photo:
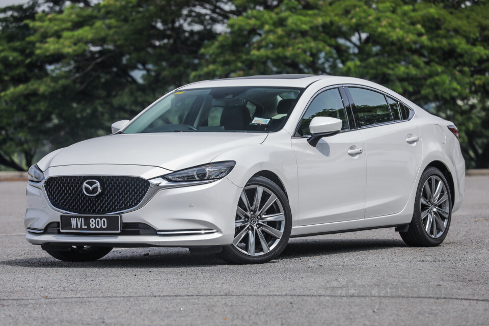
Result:
{"label": "slim headlight right of the grille, above the front bumper", "polygon": [[163,176],[172,182],[201,181],[224,178],[236,165],[235,161],[216,162],[173,172]]}

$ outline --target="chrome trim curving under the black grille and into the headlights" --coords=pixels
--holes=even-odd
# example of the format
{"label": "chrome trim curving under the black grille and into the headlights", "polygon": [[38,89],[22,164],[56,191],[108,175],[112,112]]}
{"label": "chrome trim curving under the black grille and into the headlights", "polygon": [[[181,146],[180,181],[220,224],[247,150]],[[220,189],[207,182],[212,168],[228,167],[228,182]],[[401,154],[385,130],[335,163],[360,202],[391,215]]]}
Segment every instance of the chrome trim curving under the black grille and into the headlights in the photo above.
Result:
{"label": "chrome trim curving under the black grille and into the headlights", "polygon": [[[102,176],[102,175],[93,175],[93,176]],[[103,175],[103,176],[112,176],[112,175]],[[118,177],[134,177],[134,176],[118,175]],[[101,216],[101,215],[114,215],[114,214],[121,214],[121,213],[129,213],[129,212],[132,212],[132,211],[135,211],[135,210],[138,210],[138,209],[142,208],[158,192],[160,192],[162,190],[172,189],[172,188],[189,187],[189,186],[199,185],[199,184],[206,184],[206,183],[211,183],[211,182],[215,182],[215,181],[218,181],[218,180],[220,180],[220,179],[202,180],[202,181],[191,181],[191,182],[170,182],[170,181],[165,180],[162,177],[153,178],[151,180],[147,180],[150,183],[149,189],[146,192],[146,194],[144,195],[143,200],[138,205],[136,205],[136,206],[134,206],[132,208],[128,208],[128,209],[124,209],[124,210],[119,210],[119,211],[116,211],[116,212],[110,212],[110,213],[105,213],[105,214],[95,214],[95,215]],[[52,210],[55,210],[55,211],[60,212],[60,213],[73,214],[73,215],[87,215],[88,214],[88,213],[87,214],[74,213],[74,212],[70,212],[70,211],[67,211],[67,210],[59,209],[59,208],[56,208],[55,206],[53,206],[51,204],[51,202],[49,201],[49,198],[47,196],[46,189],[45,189],[45,186],[44,186],[45,182],[46,182],[46,179],[44,179],[44,178],[40,182],[28,181],[28,183],[30,185],[32,185],[32,186],[34,186],[34,187],[36,187],[36,188],[38,188],[38,189],[41,190],[41,193],[43,194],[44,199],[46,200],[46,203],[49,205],[49,207]],[[93,215],[93,214],[91,214],[91,215]]]}

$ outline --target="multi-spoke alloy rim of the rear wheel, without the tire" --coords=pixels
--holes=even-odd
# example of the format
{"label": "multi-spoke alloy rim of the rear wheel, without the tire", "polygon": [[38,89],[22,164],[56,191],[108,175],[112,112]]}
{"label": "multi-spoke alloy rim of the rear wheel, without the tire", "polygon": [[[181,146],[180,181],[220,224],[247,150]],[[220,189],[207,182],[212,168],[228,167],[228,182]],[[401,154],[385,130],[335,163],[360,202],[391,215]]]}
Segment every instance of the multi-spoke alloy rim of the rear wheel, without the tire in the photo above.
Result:
{"label": "multi-spoke alloy rim of the rear wheel, without the tire", "polygon": [[447,228],[450,211],[447,187],[440,177],[432,175],[426,180],[420,204],[426,233],[432,238],[439,238]]}

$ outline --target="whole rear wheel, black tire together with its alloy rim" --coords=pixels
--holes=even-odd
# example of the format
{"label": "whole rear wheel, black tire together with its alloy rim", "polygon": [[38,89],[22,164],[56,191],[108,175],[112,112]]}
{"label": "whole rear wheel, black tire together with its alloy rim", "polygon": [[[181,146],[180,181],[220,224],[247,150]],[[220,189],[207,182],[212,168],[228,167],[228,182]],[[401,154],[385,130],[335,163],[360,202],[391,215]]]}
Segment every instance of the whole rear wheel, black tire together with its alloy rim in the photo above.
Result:
{"label": "whole rear wheel, black tire together with its alloy rim", "polygon": [[[440,193],[437,194],[440,183]],[[440,170],[429,167],[418,184],[408,231],[399,232],[399,235],[408,246],[436,247],[447,236],[451,218],[452,199],[448,182]]]}

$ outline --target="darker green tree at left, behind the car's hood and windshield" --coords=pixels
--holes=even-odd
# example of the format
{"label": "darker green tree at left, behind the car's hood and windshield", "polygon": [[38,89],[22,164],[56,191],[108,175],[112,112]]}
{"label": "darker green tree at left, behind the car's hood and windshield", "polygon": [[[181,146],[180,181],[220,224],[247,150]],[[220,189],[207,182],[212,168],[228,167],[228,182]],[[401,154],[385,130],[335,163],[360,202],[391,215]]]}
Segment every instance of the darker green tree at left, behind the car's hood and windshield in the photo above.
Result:
{"label": "darker green tree at left, behind the car's hood and windshield", "polygon": [[42,146],[107,134],[188,83],[214,26],[236,14],[220,1],[70,3],[2,9],[1,165],[22,170]]}

